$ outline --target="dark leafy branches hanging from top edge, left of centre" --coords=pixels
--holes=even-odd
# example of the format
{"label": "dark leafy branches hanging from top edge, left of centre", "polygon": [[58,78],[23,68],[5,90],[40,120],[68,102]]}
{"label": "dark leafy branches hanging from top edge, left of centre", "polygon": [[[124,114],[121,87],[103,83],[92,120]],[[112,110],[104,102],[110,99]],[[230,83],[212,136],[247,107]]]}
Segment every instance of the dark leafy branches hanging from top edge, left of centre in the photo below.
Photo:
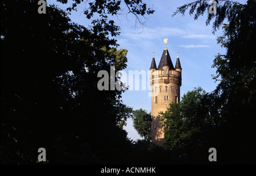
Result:
{"label": "dark leafy branches hanging from top edge, left of centre", "polygon": [[[61,3],[67,3],[67,0],[57,0]],[[68,11],[76,10],[76,6],[85,3],[86,8],[84,14],[87,19],[92,20],[93,31],[96,33],[105,32],[107,35],[111,34],[112,36],[119,35],[120,27],[116,26],[114,20],[109,19],[109,16],[115,16],[119,14],[133,14],[135,16],[135,26],[137,23],[144,26],[146,23],[146,14],[150,15],[154,13],[154,10],[147,7],[146,3],[143,3],[142,0],[125,0],[123,1],[114,1],[114,0],[73,0],[71,7],[68,7]],[[125,5],[123,7],[122,5]],[[127,11],[125,8],[127,7]],[[94,18],[98,16],[98,18]],[[141,18],[142,16],[142,18]],[[145,20],[143,20],[145,19]]]}

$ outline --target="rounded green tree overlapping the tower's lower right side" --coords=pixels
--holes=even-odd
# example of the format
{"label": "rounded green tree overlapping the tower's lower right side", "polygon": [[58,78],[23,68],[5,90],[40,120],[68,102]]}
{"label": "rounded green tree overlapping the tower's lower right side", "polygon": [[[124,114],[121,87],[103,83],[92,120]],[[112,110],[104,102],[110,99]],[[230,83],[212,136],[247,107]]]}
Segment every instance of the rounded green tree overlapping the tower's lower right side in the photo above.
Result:
{"label": "rounded green tree overlapping the tower's lower right side", "polygon": [[179,103],[172,102],[166,112],[160,112],[164,148],[194,163],[204,156],[202,150],[208,143],[207,133],[214,125],[208,108],[202,104],[205,96],[205,91],[198,87],[184,94]]}

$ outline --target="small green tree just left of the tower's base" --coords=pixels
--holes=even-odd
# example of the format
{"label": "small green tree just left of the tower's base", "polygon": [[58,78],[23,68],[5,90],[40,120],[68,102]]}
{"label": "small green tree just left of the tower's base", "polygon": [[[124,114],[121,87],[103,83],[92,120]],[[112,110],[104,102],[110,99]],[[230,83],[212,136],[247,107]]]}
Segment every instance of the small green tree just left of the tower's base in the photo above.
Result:
{"label": "small green tree just left of the tower's base", "polygon": [[151,113],[146,110],[133,111],[133,127],[138,132],[139,136],[145,140],[151,140]]}

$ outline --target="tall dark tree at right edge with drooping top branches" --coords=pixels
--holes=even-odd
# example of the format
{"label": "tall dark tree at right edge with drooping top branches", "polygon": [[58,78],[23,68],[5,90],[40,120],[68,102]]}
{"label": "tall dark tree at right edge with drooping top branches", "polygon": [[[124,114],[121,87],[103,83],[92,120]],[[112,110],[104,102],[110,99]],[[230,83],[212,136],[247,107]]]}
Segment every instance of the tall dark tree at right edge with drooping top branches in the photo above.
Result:
{"label": "tall dark tree at right edge with drooping top branches", "polygon": [[[208,10],[206,1],[195,1],[177,9],[174,15],[190,8],[194,19]],[[245,5],[232,1],[217,1],[217,14],[209,14],[207,25],[213,22],[213,32],[223,24],[224,35],[218,43],[226,48],[226,54],[214,58],[213,67],[217,68],[213,79],[220,81],[209,94],[208,102],[214,102],[211,115],[219,116],[221,124],[218,131],[222,144],[221,157],[226,163],[252,163],[255,153],[255,58],[251,52],[256,48],[256,1],[249,0]],[[234,155],[234,153],[236,153]],[[222,160],[224,161],[224,160]]]}

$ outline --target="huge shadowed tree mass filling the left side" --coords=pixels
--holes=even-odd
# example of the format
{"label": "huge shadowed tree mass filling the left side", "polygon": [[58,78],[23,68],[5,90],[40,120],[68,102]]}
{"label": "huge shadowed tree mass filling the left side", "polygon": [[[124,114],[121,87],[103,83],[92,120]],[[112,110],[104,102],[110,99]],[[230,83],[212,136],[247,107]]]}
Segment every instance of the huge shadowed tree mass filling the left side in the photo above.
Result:
{"label": "huge shadowed tree mass filling the left side", "polygon": [[131,109],[122,90],[97,89],[100,70],[126,68],[126,49],[37,2],[1,1],[1,164],[35,164],[41,147],[49,164],[126,162]]}

